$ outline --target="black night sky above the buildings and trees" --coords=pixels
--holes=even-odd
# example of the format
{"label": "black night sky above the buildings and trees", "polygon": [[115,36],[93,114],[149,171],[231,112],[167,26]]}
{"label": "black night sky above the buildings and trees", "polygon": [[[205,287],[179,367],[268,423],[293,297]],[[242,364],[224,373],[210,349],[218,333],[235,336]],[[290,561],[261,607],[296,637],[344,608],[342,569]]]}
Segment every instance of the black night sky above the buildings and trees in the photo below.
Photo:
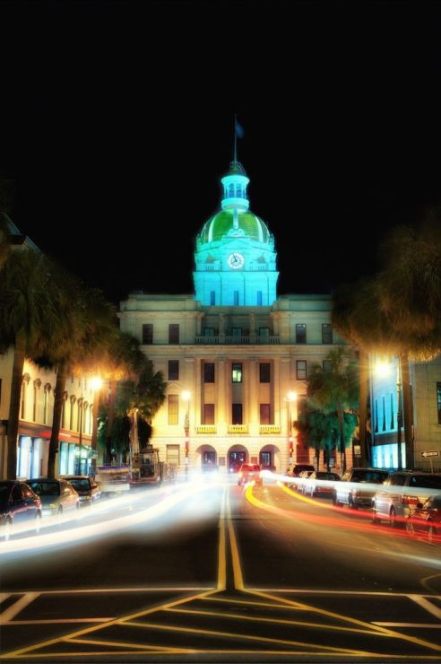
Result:
{"label": "black night sky above the buildings and trees", "polygon": [[22,232],[112,301],[193,293],[238,158],[278,291],[376,269],[441,203],[441,4],[0,2],[0,173]]}

